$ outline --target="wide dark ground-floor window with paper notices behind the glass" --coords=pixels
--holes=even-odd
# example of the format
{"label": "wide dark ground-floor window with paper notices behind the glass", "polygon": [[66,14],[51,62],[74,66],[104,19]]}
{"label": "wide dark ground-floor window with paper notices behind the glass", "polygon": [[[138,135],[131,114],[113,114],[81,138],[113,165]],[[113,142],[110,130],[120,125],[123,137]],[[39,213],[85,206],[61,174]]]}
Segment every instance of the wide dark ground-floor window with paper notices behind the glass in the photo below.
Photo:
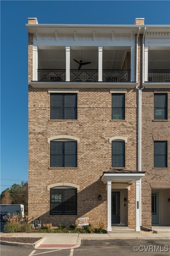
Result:
{"label": "wide dark ground-floor window with paper notices behind the glass", "polygon": [[77,189],[50,189],[50,215],[77,215]]}

